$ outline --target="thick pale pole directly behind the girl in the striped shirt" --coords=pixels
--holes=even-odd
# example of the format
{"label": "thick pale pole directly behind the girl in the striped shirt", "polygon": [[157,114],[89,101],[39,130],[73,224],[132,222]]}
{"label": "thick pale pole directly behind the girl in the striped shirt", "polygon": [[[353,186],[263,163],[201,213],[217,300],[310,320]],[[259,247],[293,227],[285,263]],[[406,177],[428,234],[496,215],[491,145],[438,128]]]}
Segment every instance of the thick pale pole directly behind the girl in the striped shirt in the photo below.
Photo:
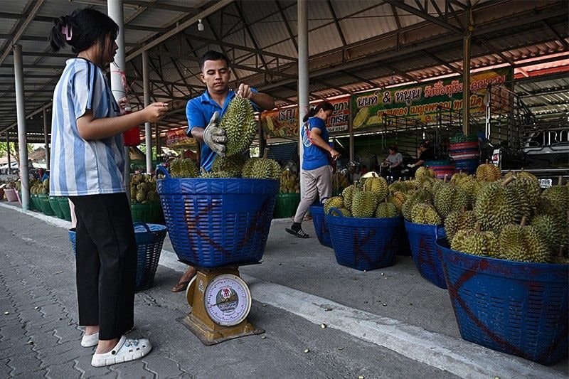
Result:
{"label": "thick pale pole directly behind the girl in the striped shirt", "polygon": [[[127,96],[127,89],[122,85],[124,68],[124,12],[122,9],[122,0],[107,0],[107,12],[119,26],[117,34],[117,55],[115,55],[115,63],[111,63],[111,90],[117,102],[122,97]],[[127,188],[127,198],[130,201],[130,149],[124,146],[124,186]]]}

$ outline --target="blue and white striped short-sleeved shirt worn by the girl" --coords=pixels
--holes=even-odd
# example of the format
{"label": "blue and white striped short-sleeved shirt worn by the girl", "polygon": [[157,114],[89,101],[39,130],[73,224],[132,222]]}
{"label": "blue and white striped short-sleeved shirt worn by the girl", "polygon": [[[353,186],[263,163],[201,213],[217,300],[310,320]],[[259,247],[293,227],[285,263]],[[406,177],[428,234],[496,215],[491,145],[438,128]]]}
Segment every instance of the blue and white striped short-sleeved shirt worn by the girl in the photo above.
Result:
{"label": "blue and white striped short-sleeved shirt worn by the girl", "polygon": [[83,58],[67,61],[53,93],[50,195],[84,196],[124,192],[122,134],[85,141],[77,119],[91,110],[95,119],[120,114],[109,82]]}

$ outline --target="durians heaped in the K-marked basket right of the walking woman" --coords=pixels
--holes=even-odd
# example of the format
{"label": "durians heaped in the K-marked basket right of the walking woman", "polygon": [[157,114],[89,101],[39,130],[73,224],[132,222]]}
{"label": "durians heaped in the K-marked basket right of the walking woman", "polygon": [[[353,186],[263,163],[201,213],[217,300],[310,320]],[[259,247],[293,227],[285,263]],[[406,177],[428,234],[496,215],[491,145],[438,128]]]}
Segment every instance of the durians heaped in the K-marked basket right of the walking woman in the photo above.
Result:
{"label": "durians heaped in the K-marked basket right of the walking woman", "polygon": [[401,215],[397,201],[398,199],[389,196],[387,181],[380,176],[373,176],[344,188],[341,196],[329,198],[324,202],[324,213],[334,216],[341,213],[345,217],[394,218]]}

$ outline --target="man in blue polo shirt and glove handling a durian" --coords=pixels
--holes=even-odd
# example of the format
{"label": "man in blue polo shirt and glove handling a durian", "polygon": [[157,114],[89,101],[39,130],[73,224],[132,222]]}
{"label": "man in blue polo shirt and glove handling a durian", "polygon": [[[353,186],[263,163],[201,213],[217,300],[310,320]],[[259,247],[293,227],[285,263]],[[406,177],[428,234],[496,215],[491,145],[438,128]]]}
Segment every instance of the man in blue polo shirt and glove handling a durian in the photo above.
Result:
{"label": "man in blue polo shirt and glove handling a durian", "polygon": [[220,117],[235,96],[251,100],[255,111],[270,110],[275,107],[275,100],[267,94],[241,83],[237,92],[229,89],[229,59],[218,51],[208,51],[200,61],[201,80],[206,85],[203,95],[194,97],[186,106],[188,135],[200,142],[200,166],[210,171],[216,154],[225,155],[225,131],[218,128]]}

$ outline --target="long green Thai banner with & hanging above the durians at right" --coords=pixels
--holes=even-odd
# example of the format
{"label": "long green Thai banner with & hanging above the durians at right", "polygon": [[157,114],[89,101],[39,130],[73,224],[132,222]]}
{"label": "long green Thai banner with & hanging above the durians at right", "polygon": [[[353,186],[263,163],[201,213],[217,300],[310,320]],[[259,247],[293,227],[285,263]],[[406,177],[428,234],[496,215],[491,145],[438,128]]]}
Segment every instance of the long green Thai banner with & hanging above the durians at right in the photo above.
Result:
{"label": "long green Thai banner with & hanging above the durians at right", "polygon": [[[472,74],[470,113],[484,114],[484,96],[489,85],[511,82],[513,78],[512,68]],[[430,124],[436,122],[439,109],[455,112],[462,109],[462,76],[362,92],[351,97],[354,130],[381,125],[383,114],[419,119]]]}

